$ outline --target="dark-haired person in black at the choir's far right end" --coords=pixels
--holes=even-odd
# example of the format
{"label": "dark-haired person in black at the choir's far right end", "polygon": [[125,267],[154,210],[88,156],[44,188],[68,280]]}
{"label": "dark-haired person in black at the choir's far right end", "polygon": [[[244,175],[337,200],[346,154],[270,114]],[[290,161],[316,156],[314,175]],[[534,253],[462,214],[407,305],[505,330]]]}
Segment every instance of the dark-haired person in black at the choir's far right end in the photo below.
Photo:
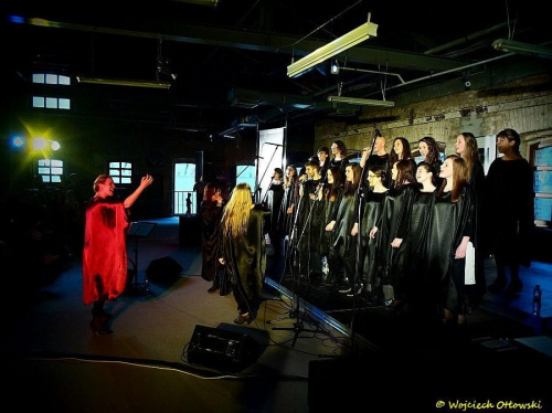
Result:
{"label": "dark-haired person in black at the choir's far right end", "polygon": [[513,298],[523,287],[519,266],[531,265],[529,248],[534,224],[533,171],[521,157],[520,144],[516,130],[501,130],[497,135],[497,149],[502,157],[492,161],[485,179],[486,239],[497,266],[497,278],[488,289],[496,294],[506,287],[508,266],[510,284],[506,290],[507,298]]}

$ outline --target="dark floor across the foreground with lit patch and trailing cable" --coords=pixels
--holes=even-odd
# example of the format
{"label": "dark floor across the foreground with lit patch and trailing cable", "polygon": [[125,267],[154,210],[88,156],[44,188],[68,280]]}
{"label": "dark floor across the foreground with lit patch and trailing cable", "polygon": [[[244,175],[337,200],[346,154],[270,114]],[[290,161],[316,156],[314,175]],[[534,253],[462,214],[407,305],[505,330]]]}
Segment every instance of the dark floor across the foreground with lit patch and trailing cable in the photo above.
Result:
{"label": "dark floor across the foreground with lit patch and trailing cable", "polygon": [[[551,411],[548,390],[537,385],[527,395],[519,386],[531,366],[546,367],[552,357],[552,339],[543,327],[552,297],[544,264],[534,263],[522,274],[526,287],[517,300],[487,296],[463,336],[429,331],[383,309],[363,310],[337,300],[332,307],[331,300],[317,301],[314,294],[298,296],[275,277],[267,277],[255,322],[236,326],[232,295],[208,294],[210,284],[199,276],[200,248],[182,246],[182,234],[192,244],[197,233],[179,229],[177,218],[151,222],[156,226],[148,237],[129,240],[138,274],[107,305],[114,316],[112,335],[97,336],[88,327],[91,308],[82,305],[78,255],[42,274],[35,292],[12,292],[18,298],[2,311],[0,366],[8,385],[1,395],[7,405],[57,412],[322,412],[357,406],[354,395],[370,391],[370,398],[360,400],[367,410],[381,400],[392,400],[394,407],[407,400],[404,407],[434,411],[437,396],[478,398],[485,390],[495,401],[505,391],[520,398],[537,394],[548,409],[540,411]],[[163,271],[149,279],[156,265]],[[276,274],[278,263],[269,265]],[[15,277],[17,271],[9,276]],[[543,287],[538,318],[527,313],[526,294],[537,282]],[[347,314],[354,315],[354,322]],[[198,345],[198,331],[208,332],[211,341]],[[230,342],[243,352],[226,357]],[[447,388],[439,374],[423,388],[411,378],[410,390],[403,392],[417,395],[394,395],[397,377],[389,372],[406,369],[417,375],[420,369],[440,371],[444,364],[455,372]],[[512,379],[508,371],[521,366],[524,375]],[[492,371],[502,389],[491,390],[484,380],[488,374],[480,371]],[[360,381],[354,379],[359,375]]]}

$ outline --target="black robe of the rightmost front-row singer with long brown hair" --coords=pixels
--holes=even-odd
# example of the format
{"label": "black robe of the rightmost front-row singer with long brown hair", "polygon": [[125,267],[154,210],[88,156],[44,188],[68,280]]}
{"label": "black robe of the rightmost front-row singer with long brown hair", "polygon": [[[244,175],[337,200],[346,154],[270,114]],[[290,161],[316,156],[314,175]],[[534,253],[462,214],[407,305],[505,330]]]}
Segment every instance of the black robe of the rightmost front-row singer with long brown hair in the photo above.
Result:
{"label": "black robe of the rightmost front-row singer with long brown hair", "polygon": [[452,192],[435,197],[427,237],[427,273],[436,303],[464,314],[466,258],[455,260],[464,236],[473,237],[474,193],[466,184],[457,202]]}

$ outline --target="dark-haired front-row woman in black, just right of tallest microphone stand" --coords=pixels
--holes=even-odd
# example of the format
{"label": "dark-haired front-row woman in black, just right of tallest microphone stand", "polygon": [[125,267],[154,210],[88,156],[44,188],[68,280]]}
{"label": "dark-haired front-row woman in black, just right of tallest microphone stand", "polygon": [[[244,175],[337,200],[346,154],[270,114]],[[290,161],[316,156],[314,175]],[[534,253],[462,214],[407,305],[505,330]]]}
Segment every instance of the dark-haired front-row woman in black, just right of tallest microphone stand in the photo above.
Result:
{"label": "dark-haired front-row woman in black, just right of tallest microphone stand", "polygon": [[[370,167],[368,172],[368,182],[362,182],[361,189],[361,221],[360,221],[360,237],[361,237],[361,252],[359,254],[360,263],[359,272],[360,285],[357,290],[352,293],[360,293],[367,298],[369,303],[375,304],[383,300],[381,279],[376,276],[375,271],[375,256],[376,256],[376,242],[374,237],[370,236],[370,230],[374,227],[375,223],[380,220],[383,212],[383,204],[388,195],[388,188],[384,186],[386,180],[385,167],[374,165]],[[368,184],[367,184],[368,183]],[[355,236],[359,233],[358,216],[351,235]],[[350,293],[351,294],[351,293]]]}

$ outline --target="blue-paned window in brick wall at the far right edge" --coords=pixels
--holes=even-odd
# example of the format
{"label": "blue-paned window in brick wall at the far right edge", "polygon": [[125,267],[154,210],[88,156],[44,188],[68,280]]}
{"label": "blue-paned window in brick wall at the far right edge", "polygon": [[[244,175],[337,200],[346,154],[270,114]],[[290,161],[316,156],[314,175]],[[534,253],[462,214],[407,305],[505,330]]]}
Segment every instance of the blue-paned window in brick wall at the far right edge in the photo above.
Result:
{"label": "blue-paned window in brick wall at the far right edge", "polygon": [[534,173],[534,223],[552,224],[552,140],[531,145]]}

